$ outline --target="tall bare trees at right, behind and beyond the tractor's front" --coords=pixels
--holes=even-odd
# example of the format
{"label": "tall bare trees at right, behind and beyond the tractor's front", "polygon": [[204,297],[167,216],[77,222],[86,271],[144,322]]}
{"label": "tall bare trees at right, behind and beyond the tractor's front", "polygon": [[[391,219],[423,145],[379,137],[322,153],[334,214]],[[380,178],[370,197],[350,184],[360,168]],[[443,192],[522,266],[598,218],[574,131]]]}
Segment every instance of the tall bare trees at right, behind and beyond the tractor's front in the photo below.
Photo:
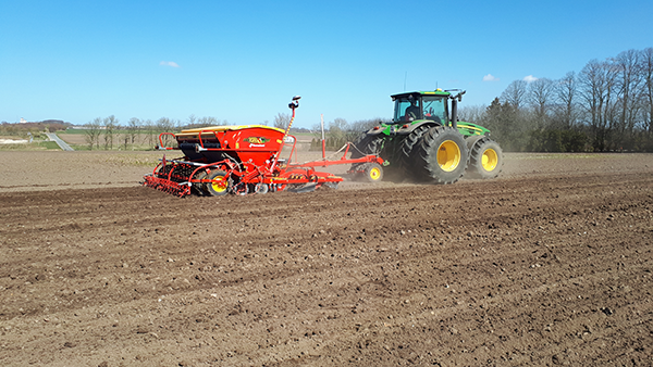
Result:
{"label": "tall bare trees at right, behind and beyond the tractor's front", "polygon": [[460,119],[492,131],[506,151],[653,151],[653,48],[591,60],[559,79],[515,80]]}

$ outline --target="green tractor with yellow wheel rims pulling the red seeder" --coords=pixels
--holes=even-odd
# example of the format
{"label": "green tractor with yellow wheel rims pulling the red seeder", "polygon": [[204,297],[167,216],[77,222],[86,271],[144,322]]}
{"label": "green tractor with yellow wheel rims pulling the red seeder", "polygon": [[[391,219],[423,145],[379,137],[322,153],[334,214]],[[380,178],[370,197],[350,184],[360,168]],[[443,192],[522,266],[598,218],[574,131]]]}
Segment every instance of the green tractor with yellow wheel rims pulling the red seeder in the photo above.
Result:
{"label": "green tractor with yellow wheel rims pulling the red seeder", "polygon": [[[453,92],[457,92],[453,94]],[[475,178],[498,176],[503,155],[490,130],[458,122],[458,102],[465,91],[412,91],[393,94],[391,123],[373,127],[354,142],[352,157],[379,154],[384,170],[395,179],[453,184],[466,174]],[[449,103],[451,100],[451,111]],[[449,117],[451,116],[451,117]],[[353,166],[370,180],[380,180],[380,167]]]}

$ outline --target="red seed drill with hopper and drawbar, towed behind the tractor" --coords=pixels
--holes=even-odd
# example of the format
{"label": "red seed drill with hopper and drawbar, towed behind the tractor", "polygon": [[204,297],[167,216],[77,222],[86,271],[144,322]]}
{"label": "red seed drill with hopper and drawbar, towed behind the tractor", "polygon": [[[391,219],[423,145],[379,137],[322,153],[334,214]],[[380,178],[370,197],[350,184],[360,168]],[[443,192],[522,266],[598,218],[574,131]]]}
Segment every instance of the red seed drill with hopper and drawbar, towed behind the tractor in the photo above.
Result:
{"label": "red seed drill with hopper and drawbar, towed behind the tractor", "polygon": [[[317,172],[316,167],[352,164],[357,167],[348,172],[353,174],[365,173],[369,164],[381,169],[383,160],[378,155],[346,159],[350,143],[347,143],[343,156],[335,161],[325,159],[323,144],[321,161],[289,163],[280,159],[288,137],[293,140],[289,157],[296,150],[297,139],[288,131],[299,98],[294,97],[288,105],[293,114],[285,130],[267,126],[227,126],[185,130],[177,135],[160,134],[158,149],[182,150],[186,155],[176,160],[167,160],[164,155],[152,174],[144,177],[143,185],[178,197],[190,194],[192,188],[200,194],[213,195],[266,193],[286,188],[304,192],[322,185],[337,187],[343,181],[342,177]],[[174,137],[177,147],[164,147],[164,136]],[[248,147],[241,147],[242,143]]]}

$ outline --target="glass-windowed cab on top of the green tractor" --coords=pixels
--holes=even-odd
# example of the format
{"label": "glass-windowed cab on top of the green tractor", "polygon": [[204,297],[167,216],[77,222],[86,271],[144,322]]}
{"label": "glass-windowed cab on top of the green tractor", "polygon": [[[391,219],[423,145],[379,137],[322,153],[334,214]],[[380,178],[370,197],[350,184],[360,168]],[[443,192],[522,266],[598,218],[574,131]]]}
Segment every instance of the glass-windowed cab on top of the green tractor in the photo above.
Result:
{"label": "glass-windowed cab on top of the green tractor", "polygon": [[446,125],[448,118],[448,92],[435,91],[406,92],[392,96],[395,102],[394,124],[406,124],[430,119]]}

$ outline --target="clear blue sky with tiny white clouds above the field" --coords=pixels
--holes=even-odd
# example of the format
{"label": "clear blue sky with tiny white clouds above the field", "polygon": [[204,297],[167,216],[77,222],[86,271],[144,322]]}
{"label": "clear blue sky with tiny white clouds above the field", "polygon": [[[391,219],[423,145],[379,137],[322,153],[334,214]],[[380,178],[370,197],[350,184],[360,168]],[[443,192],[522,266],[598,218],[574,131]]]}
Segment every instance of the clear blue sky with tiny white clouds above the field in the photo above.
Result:
{"label": "clear blue sky with tiny white clouds above the field", "polygon": [[0,122],[115,115],[295,126],[391,117],[390,94],[559,78],[653,47],[653,1],[0,0]]}

